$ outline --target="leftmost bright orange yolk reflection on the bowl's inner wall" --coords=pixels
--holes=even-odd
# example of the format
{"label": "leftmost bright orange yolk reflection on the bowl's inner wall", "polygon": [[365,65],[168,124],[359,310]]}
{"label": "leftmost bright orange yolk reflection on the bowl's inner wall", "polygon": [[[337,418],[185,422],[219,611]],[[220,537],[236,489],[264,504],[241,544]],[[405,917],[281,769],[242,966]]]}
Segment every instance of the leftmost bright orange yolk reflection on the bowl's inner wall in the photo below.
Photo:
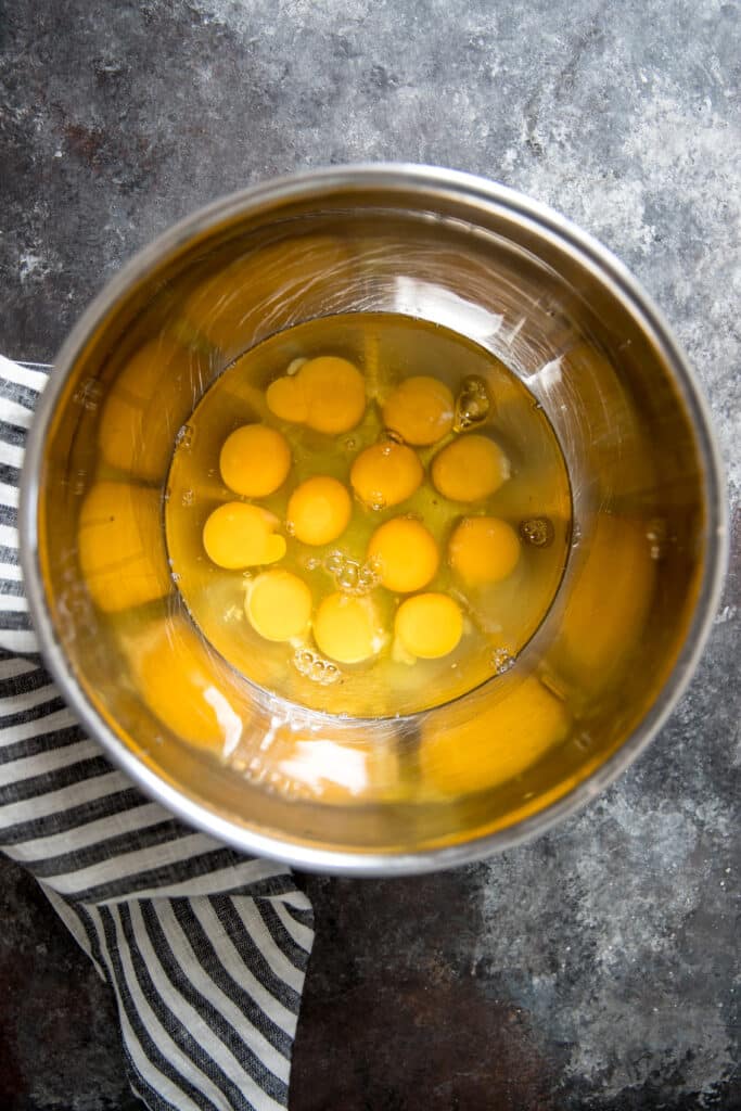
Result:
{"label": "leftmost bright orange yolk reflection on the bowl's inner wall", "polygon": [[128,482],[98,482],[80,510],[80,569],[96,605],[114,613],[172,589],[160,524],[160,494]]}

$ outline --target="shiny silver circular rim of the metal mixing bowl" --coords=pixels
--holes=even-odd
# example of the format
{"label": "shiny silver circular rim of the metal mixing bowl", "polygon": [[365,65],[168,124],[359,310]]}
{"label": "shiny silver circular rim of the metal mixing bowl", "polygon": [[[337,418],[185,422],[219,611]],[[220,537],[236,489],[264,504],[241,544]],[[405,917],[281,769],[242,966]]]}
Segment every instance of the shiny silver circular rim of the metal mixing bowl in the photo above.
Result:
{"label": "shiny silver circular rim of the metal mixing bowl", "polygon": [[[38,563],[39,474],[43,447],[57,402],[88,337],[122,301],[148,271],[219,221],[250,212],[259,216],[276,204],[317,199],[338,189],[405,190],[437,199],[464,201],[482,211],[503,211],[529,224],[582,266],[622,302],[661,352],[688,410],[703,468],[707,508],[707,560],[700,590],[684,641],[653,704],[625,737],[620,748],[557,801],[512,825],[445,848],[388,852],[329,849],[301,844],[274,832],[259,832],[220,817],[201,802],[189,799],[167,783],[128,748],[98,713],[78,682],[57,639],[47,605]],[[719,449],[710,411],[694,371],[669,323],[641,283],[620,260],[589,232],[582,231],[549,206],[503,184],[457,170],[405,162],[349,163],[272,179],[230,193],[196,210],[138,251],[96,296],[64,340],[41,394],[29,432],[19,501],[20,561],[29,611],[44,661],[64,699],[83,727],[103,747],[106,754],[148,795],[187,824],[211,834],[240,852],[266,857],[304,871],[356,877],[409,875],[471,863],[510,849],[551,829],[585,807],[635,760],[649,744],[685,691],[699,663],[720,603],[728,562],[728,507]]]}

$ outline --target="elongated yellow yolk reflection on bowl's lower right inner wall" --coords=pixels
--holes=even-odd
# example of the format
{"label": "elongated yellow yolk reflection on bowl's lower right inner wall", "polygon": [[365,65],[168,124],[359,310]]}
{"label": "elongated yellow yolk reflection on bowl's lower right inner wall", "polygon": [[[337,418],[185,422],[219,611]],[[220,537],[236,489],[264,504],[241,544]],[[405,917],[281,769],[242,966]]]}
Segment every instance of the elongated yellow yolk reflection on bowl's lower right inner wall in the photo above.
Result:
{"label": "elongated yellow yolk reflection on bowl's lower right inner wall", "polygon": [[422,730],[422,779],[447,795],[470,794],[505,783],[535,763],[569,733],[568,711],[530,675],[494,705],[482,705],[459,724]]}

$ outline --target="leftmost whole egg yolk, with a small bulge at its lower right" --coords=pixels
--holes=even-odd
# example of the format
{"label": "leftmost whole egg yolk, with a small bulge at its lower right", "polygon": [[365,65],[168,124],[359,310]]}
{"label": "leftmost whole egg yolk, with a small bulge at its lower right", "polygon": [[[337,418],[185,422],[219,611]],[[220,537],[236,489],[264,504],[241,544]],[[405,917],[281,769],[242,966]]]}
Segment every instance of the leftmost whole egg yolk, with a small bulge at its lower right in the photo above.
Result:
{"label": "leftmost whole egg yolk, with a small bulge at its lower right", "polygon": [[206,553],[228,570],[274,563],[286,554],[286,540],[274,531],[277,524],[278,518],[259,506],[227,502],[203,526]]}

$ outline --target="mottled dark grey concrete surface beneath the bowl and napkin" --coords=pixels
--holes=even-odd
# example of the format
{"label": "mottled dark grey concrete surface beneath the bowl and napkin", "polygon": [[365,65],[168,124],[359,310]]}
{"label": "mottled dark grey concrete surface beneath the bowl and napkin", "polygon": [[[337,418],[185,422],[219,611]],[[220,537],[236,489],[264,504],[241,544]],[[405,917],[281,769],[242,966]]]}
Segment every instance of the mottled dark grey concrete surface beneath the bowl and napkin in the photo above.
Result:
{"label": "mottled dark grey concrete surface beneath the bowl and napkin", "polygon": [[[435,878],[307,881],[319,939],[291,1108],[741,1107],[738,4],[6,0],[0,12],[9,356],[50,359],[122,260],[202,202],[360,159],[475,170],[549,201],[659,300],[709,394],[737,521],[691,691],[615,788],[531,845]],[[132,1111],[92,971],[9,864],[0,902],[0,1107]]]}

